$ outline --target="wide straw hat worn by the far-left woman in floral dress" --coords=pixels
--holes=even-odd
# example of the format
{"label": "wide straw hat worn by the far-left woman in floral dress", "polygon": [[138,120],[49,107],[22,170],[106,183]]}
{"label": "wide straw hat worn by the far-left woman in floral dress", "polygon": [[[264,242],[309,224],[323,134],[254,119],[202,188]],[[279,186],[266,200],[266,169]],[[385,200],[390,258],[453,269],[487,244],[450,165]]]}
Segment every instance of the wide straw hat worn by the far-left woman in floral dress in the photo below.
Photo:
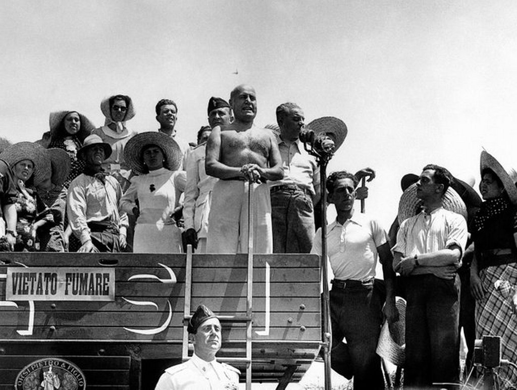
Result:
{"label": "wide straw hat worn by the far-left woman in floral dress", "polygon": [[6,161],[11,167],[22,160],[31,160],[34,164],[33,182],[41,183],[51,174],[50,158],[47,149],[34,142],[19,142],[4,150],[0,159]]}

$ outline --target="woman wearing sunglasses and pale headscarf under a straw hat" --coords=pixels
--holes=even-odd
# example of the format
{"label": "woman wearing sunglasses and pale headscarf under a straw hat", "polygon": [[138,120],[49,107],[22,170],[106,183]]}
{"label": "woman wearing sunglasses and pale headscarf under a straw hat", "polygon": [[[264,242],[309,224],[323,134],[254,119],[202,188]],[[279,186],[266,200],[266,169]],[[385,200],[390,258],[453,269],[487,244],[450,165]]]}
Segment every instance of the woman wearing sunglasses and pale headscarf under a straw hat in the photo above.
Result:
{"label": "woman wearing sunglasses and pale headscarf under a straw hat", "polygon": [[102,100],[100,110],[105,117],[104,126],[95,129],[93,133],[101,137],[113,150],[111,156],[102,164],[102,168],[113,175],[125,191],[129,185],[130,170],[124,159],[124,147],[136,134],[126,126],[126,122],[135,115],[133,101],[126,95],[113,95]]}

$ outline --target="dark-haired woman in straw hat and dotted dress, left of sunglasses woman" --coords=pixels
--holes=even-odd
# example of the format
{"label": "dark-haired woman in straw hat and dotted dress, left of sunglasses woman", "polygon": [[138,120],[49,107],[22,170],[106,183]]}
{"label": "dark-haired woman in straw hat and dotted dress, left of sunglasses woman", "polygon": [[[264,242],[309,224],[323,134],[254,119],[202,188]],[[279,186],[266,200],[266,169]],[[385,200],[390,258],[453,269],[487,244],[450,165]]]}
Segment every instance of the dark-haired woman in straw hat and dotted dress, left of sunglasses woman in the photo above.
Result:
{"label": "dark-haired woman in straw hat and dotted dress, left of sunglasses woman", "polygon": [[83,146],[86,138],[95,126],[84,115],[77,111],[58,111],[50,114],[49,148],[66,151],[70,157],[70,173],[63,183],[68,188],[71,181],[83,173],[84,161],[77,158],[77,151]]}

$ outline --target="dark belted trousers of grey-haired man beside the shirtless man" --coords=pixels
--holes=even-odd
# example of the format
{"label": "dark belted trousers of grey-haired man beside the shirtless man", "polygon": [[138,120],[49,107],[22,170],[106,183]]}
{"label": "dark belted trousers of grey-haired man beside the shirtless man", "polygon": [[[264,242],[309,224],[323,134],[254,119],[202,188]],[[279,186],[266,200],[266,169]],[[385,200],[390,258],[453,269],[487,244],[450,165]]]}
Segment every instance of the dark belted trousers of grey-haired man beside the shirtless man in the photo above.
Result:
{"label": "dark belted trousers of grey-haired man beside the shirtless man", "polygon": [[308,191],[271,191],[273,253],[310,253],[314,209]]}

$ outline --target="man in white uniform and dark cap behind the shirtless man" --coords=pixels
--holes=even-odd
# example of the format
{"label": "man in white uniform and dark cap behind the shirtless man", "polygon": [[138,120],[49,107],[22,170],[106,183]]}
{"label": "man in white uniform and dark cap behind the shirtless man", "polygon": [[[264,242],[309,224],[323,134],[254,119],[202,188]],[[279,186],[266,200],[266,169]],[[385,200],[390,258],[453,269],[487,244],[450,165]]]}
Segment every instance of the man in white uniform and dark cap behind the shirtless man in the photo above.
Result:
{"label": "man in white uniform and dark cap behind the shirtless man", "polygon": [[[230,124],[230,104],[224,99],[211,97],[208,101],[208,123],[211,128]],[[205,171],[206,142],[197,145],[187,160],[187,184],[183,216],[185,218],[185,245],[191,244],[197,253],[206,252],[210,194],[218,180]],[[185,249],[186,252],[186,249]]]}

